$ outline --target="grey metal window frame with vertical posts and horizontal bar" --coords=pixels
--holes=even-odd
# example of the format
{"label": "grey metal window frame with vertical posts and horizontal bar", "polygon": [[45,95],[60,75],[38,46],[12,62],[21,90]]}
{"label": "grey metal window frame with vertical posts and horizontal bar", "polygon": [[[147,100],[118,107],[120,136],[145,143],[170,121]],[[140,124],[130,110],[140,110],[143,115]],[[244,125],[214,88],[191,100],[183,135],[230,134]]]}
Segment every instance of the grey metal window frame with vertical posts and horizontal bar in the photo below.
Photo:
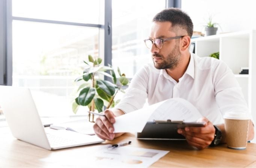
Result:
{"label": "grey metal window frame with vertical posts and horizontal bar", "polygon": [[[63,24],[99,28],[99,55],[104,55],[104,65],[112,65],[112,0],[104,0],[104,25],[74,23],[56,20],[13,17],[12,0],[0,1],[0,85],[12,86],[12,21],[32,21],[38,23]],[[181,0],[166,0],[166,8],[181,8]],[[100,18],[101,19],[101,18]],[[107,78],[105,78],[107,80]],[[108,79],[109,80],[109,79]]]}

